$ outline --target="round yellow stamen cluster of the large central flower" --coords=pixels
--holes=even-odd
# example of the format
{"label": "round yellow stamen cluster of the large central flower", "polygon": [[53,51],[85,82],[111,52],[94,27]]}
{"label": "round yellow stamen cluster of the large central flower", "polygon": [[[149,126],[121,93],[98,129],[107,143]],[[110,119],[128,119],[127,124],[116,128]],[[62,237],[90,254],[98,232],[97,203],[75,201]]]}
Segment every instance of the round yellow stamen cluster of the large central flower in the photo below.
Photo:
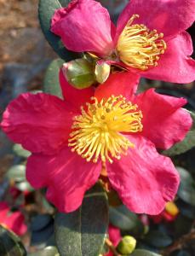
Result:
{"label": "round yellow stamen cluster of the large central flower", "polygon": [[81,107],[82,114],[74,118],[68,146],[87,161],[103,162],[120,159],[133,143],[121,132],[142,131],[141,111],[123,96],[111,96],[100,102],[92,97],[93,103]]}

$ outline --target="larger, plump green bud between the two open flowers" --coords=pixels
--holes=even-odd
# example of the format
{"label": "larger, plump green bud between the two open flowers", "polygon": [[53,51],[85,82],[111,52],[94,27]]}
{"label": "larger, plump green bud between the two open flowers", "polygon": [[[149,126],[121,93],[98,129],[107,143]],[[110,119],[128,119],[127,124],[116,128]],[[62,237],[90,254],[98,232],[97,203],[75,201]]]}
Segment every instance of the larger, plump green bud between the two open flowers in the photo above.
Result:
{"label": "larger, plump green bud between the two open flowers", "polygon": [[66,62],[62,71],[68,83],[77,89],[88,88],[95,83],[94,67],[85,59]]}

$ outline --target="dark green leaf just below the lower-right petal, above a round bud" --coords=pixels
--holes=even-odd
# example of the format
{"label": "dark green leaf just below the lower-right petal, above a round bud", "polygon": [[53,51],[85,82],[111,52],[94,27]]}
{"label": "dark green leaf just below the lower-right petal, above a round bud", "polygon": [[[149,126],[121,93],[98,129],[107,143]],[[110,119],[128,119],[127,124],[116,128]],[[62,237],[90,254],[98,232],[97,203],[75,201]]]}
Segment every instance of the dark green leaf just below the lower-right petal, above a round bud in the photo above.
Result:
{"label": "dark green leaf just below the lower-right petal, above a round bud", "polygon": [[110,222],[120,230],[129,231],[130,234],[141,234],[144,231],[144,226],[141,220],[133,212],[130,212],[127,207],[110,207],[109,208]]}

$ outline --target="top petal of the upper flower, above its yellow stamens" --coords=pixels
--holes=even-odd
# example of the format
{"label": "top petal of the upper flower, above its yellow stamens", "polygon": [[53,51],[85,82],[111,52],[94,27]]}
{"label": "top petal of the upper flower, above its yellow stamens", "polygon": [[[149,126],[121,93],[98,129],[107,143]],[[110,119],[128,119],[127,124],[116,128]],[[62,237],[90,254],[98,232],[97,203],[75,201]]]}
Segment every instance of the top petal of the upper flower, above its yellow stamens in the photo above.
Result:
{"label": "top petal of the upper flower, above its yellow stamens", "polygon": [[165,40],[175,37],[192,25],[195,16],[194,0],[131,0],[118,19],[117,37],[132,15],[149,29],[163,32]]}

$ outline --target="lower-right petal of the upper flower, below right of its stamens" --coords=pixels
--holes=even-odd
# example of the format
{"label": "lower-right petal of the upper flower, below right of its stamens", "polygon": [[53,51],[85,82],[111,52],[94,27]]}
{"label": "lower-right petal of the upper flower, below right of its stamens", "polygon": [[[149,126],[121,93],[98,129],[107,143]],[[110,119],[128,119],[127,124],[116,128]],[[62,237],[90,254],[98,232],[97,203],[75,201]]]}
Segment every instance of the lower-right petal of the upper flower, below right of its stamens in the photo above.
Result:
{"label": "lower-right petal of the upper flower, below right of its stamens", "polygon": [[192,40],[187,32],[167,42],[167,49],[160,56],[158,66],[140,73],[148,79],[186,84],[195,79],[195,61],[187,55],[192,54]]}

